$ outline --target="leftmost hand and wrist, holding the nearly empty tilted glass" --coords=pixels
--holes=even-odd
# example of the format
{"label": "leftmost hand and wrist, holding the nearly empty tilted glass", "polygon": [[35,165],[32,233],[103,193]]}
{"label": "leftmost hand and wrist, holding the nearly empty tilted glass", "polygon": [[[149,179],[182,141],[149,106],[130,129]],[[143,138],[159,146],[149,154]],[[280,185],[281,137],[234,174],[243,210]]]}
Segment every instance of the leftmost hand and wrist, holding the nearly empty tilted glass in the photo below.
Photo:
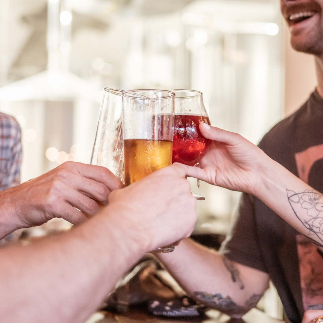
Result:
{"label": "leftmost hand and wrist, holding the nearly empty tilted glass", "polygon": [[[0,192],[0,223],[12,232],[54,217],[78,224],[107,205],[111,191],[123,187],[107,168],[67,161],[50,172]],[[11,228],[11,229],[10,229]],[[10,233],[0,232],[0,237]]]}

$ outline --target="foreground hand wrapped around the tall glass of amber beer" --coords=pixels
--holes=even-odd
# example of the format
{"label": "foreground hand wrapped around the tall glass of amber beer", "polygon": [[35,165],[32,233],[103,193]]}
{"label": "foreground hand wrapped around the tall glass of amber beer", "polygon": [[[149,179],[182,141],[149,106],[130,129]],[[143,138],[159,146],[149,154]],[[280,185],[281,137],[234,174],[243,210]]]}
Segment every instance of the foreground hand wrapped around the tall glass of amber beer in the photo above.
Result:
{"label": "foreground hand wrapped around the tall glass of amber beer", "polygon": [[196,199],[185,176],[185,167],[173,164],[109,195],[109,214],[118,214],[116,223],[146,252],[191,235]]}

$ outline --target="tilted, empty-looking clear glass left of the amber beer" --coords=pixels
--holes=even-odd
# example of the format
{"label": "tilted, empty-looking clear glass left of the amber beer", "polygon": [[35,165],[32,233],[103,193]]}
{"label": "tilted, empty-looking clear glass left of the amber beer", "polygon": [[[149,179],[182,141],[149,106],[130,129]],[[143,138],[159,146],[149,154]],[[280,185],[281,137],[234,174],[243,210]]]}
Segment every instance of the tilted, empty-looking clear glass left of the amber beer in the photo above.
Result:
{"label": "tilted, empty-looking clear glass left of the amber beer", "polygon": [[123,182],[122,92],[104,89],[90,163],[107,167]]}

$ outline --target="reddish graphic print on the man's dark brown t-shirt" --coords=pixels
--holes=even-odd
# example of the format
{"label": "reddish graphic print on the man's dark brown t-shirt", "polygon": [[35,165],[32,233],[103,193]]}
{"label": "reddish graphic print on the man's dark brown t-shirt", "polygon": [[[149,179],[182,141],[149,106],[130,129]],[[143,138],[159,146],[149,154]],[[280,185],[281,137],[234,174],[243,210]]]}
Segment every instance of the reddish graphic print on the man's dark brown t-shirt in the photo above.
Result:
{"label": "reddish graphic print on the man's dark brown t-shirt", "polygon": [[[323,144],[295,154],[299,178],[323,193]],[[304,310],[323,309],[323,258],[305,236],[296,236]]]}

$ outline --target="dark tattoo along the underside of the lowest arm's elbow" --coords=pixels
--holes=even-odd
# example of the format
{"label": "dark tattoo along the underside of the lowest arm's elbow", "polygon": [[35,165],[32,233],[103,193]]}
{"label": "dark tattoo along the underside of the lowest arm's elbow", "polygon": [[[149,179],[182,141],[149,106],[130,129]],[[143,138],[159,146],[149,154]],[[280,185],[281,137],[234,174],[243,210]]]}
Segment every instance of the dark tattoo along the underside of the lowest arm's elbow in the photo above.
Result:
{"label": "dark tattoo along the underside of the lowest arm's elbow", "polygon": [[230,296],[223,297],[221,294],[209,294],[206,292],[194,292],[201,302],[215,308],[221,312],[224,312],[230,316],[242,316],[249,309],[255,307],[261,298],[262,294],[253,294],[249,299],[246,300],[244,305],[236,304]]}

